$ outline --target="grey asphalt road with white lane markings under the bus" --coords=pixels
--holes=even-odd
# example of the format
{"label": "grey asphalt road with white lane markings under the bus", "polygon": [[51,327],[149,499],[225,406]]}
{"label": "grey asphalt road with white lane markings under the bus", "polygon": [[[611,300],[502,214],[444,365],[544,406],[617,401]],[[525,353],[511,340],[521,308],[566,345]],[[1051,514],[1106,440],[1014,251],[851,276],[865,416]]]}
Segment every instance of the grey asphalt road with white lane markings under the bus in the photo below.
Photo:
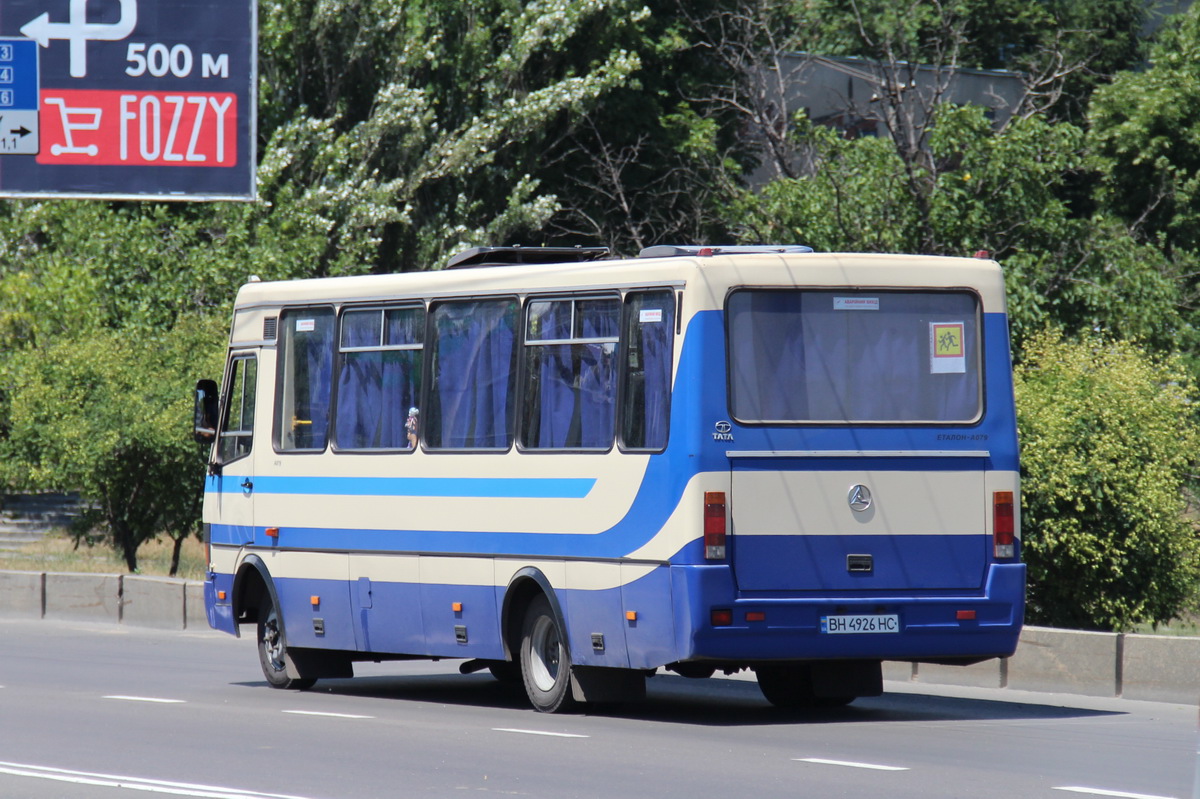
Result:
{"label": "grey asphalt road with white lane markings under the bus", "polygon": [[[214,632],[0,621],[0,797],[1130,797],[1192,799],[1194,707],[886,684],[836,711],[658,675],[544,715],[457,663],[278,691]],[[1200,799],[1198,797],[1196,799]]]}

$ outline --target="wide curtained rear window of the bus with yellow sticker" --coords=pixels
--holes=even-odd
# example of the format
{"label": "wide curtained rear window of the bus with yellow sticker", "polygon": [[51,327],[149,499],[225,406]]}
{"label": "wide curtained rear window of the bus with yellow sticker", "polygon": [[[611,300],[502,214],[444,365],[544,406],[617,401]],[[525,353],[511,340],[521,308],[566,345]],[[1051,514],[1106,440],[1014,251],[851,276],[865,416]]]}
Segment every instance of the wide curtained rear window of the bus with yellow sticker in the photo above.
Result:
{"label": "wide curtained rear window of the bus with yellow sticker", "polygon": [[968,292],[730,295],[730,401],[742,422],[973,422],[979,304]]}

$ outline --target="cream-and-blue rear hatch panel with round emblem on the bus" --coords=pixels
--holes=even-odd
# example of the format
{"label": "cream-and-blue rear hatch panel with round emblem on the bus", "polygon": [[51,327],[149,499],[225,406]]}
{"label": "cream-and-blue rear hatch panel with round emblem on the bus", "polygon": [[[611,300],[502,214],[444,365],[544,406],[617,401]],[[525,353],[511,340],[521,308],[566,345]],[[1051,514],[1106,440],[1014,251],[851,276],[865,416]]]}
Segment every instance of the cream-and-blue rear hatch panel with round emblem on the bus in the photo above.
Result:
{"label": "cream-and-blue rear hatch panel with round emblem on the bus", "polygon": [[733,567],[742,590],[983,585],[989,542],[983,457],[731,456]]}

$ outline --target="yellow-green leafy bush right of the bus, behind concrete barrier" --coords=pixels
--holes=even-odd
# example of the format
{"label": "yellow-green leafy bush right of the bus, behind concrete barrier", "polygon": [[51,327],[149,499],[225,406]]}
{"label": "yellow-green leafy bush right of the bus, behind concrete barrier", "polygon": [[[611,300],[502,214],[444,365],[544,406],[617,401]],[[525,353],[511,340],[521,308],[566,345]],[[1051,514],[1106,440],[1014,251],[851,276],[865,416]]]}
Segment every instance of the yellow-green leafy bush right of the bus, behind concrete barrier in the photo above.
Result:
{"label": "yellow-green leafy bush right of the bus, behind concrete barrier", "polygon": [[1030,620],[1128,630],[1194,602],[1184,487],[1200,443],[1177,359],[1043,332],[1015,371]]}

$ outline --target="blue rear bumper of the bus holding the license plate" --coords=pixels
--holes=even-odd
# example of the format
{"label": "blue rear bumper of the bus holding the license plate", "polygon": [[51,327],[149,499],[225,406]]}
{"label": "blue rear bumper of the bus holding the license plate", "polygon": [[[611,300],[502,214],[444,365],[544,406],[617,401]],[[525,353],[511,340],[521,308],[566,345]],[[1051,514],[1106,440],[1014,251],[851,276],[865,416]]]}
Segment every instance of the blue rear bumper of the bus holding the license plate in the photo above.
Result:
{"label": "blue rear bumper of the bus holding the license plate", "polygon": [[721,567],[676,572],[680,661],[974,662],[1012,655],[1025,615],[1024,564],[992,564],[983,591],[928,596],[785,599],[738,594]]}

